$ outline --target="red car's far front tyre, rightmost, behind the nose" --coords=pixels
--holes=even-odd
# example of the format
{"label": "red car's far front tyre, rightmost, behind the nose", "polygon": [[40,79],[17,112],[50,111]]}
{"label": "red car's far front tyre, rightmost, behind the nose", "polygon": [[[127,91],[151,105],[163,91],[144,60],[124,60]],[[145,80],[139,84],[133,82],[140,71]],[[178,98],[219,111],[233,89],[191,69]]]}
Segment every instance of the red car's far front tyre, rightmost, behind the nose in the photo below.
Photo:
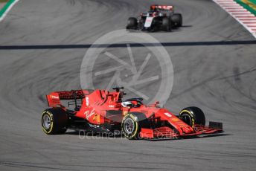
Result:
{"label": "red car's far front tyre, rightmost, behind the nose", "polygon": [[198,107],[188,107],[179,112],[179,117],[192,128],[195,124],[205,126],[205,114]]}

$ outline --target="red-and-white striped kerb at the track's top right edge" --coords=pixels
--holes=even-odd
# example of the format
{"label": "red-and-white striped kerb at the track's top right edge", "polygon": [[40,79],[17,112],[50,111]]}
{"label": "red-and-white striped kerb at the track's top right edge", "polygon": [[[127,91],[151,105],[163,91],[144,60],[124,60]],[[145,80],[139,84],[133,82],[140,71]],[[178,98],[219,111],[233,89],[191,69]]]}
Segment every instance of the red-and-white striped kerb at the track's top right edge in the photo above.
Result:
{"label": "red-and-white striped kerb at the track's top right edge", "polygon": [[233,0],[213,0],[256,38],[256,16]]}

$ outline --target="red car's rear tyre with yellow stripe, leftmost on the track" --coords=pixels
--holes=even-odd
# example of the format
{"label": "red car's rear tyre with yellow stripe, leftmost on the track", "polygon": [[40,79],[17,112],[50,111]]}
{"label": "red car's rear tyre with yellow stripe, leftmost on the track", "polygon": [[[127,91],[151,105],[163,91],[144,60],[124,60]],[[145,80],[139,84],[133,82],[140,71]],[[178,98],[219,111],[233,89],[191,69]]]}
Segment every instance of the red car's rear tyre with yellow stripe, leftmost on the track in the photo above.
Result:
{"label": "red car's rear tyre with yellow stripe, leftmost on the track", "polygon": [[61,108],[46,109],[42,112],[42,130],[47,135],[64,134],[68,123],[68,114]]}

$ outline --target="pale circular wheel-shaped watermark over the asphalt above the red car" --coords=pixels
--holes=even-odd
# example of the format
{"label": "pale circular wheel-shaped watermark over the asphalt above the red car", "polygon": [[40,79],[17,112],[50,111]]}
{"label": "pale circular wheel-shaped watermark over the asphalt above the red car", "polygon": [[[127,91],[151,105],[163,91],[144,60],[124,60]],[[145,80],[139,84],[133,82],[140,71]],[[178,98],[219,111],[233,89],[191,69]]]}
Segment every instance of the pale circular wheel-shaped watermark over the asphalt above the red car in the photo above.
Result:
{"label": "pale circular wheel-shaped watermark over the asphalt above the red car", "polygon": [[86,51],[80,83],[83,89],[122,86],[127,97],[164,105],[173,88],[173,65],[166,49],[153,36],[114,30]]}

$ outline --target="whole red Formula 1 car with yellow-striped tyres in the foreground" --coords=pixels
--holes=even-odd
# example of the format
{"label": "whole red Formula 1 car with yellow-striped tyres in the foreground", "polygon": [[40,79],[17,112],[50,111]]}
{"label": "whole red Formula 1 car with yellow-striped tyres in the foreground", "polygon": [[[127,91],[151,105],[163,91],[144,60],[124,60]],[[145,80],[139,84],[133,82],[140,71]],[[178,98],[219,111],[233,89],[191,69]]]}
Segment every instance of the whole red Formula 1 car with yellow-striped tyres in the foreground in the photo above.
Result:
{"label": "whole red Formula 1 car with yellow-striped tyres in the foreground", "polygon": [[[210,122],[197,107],[183,109],[178,116],[156,102],[144,105],[142,98],[124,100],[123,88],[106,90],[57,91],[47,95],[49,109],[42,113],[42,130],[63,134],[67,129],[86,132],[121,132],[128,139],[180,138],[223,131],[223,124]],[[69,110],[60,103],[68,100]]]}

